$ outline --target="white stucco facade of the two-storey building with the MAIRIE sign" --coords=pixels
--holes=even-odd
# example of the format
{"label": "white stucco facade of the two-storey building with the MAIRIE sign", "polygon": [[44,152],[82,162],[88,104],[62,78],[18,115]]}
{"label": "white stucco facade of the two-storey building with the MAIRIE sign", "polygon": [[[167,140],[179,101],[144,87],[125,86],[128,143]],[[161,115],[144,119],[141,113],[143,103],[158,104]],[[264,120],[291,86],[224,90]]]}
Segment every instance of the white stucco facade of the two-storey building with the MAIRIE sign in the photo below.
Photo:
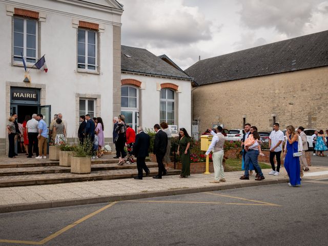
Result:
{"label": "white stucco facade of the two-storey building with the MAIRIE sign", "polygon": [[[63,113],[68,122],[68,137],[76,137],[78,112],[76,112],[76,93],[101,96],[100,111],[105,124],[105,137],[112,137],[113,118],[113,23],[120,25],[119,14],[91,9],[85,6],[71,5],[65,2],[49,0],[29,0],[5,3],[0,0],[0,138],[6,136],[8,111],[6,105],[6,83],[23,83],[24,68],[11,66],[12,55],[12,16],[6,15],[6,7],[24,8],[43,12],[45,22],[40,29],[40,54],[46,54],[48,73],[31,69],[31,84],[46,85],[45,104],[51,105],[51,114]],[[22,4],[21,4],[22,3]],[[77,28],[73,20],[86,20],[97,23],[103,28],[100,32],[100,73],[90,74],[76,71]],[[25,86],[29,86],[25,83]]]}

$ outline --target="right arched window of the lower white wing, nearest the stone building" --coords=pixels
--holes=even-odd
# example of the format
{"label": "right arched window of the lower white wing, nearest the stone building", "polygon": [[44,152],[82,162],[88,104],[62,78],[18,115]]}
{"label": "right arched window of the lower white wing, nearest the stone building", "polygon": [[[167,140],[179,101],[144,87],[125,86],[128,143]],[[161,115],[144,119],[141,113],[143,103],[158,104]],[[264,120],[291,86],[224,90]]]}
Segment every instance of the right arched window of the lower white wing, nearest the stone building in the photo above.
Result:
{"label": "right arched window of the lower white wing, nearest the stone building", "polygon": [[175,125],[175,92],[171,89],[160,90],[160,122]]}

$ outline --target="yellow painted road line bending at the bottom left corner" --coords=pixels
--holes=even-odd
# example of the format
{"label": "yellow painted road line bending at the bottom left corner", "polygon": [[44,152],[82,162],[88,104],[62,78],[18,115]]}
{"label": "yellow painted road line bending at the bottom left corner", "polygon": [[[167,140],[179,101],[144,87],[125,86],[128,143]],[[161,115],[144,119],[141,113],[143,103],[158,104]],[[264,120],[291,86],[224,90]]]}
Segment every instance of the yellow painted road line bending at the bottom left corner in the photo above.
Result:
{"label": "yellow painted road line bending at the bottom left corner", "polygon": [[97,211],[91,213],[91,214],[88,214],[86,215],[85,217],[83,218],[80,218],[79,220],[69,224],[67,227],[64,227],[63,229],[51,234],[50,236],[42,239],[41,241],[19,241],[19,240],[4,240],[4,239],[0,239],[0,242],[8,242],[8,243],[24,243],[24,244],[36,244],[36,245],[42,245],[52,239],[54,239],[55,237],[59,236],[60,234],[70,230],[71,228],[77,226],[79,223],[91,218],[92,216],[112,207],[115,203],[117,203],[117,201],[114,201],[114,202],[111,202],[110,204],[106,205],[105,207],[103,208],[100,208],[98,209]]}

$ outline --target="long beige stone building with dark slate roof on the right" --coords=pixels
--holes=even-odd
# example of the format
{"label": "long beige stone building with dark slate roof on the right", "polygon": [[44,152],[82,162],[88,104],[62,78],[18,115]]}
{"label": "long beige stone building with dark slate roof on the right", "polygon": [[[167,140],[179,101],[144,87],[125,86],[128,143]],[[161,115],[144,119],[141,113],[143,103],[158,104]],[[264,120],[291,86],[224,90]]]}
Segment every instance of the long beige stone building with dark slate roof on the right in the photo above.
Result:
{"label": "long beige stone building with dark slate roof on the right", "polygon": [[186,70],[199,132],[212,125],[270,131],[274,122],[328,129],[328,31],[198,61]]}

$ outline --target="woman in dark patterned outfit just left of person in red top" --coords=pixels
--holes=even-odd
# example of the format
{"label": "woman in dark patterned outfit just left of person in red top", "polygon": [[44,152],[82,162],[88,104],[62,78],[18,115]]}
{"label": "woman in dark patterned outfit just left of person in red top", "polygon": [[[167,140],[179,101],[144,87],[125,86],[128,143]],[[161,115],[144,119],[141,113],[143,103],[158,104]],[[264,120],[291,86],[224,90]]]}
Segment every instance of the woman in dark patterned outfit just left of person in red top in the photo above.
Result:
{"label": "woman in dark patterned outfit just left of person in red top", "polygon": [[124,150],[125,143],[127,141],[126,132],[127,126],[125,125],[125,116],[120,114],[118,115],[117,127],[115,128],[115,132],[117,136],[115,138],[115,148],[118,150],[118,163],[117,165],[122,166],[125,162],[124,157],[126,157],[127,153]]}

